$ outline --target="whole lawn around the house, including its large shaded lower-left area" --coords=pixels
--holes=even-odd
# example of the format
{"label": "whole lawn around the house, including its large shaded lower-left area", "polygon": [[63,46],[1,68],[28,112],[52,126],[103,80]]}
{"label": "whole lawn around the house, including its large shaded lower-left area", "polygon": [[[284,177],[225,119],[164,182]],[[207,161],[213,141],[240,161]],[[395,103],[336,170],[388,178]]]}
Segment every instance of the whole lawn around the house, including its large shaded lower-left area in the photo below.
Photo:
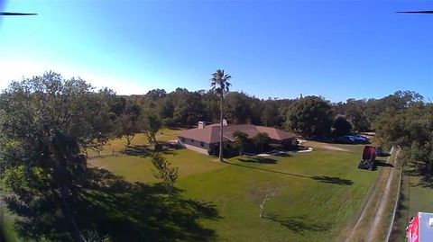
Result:
{"label": "whole lawn around the house, including its large shaded lower-left area", "polygon": [[[175,139],[178,132],[162,130],[158,139]],[[111,182],[93,184],[78,201],[82,229],[97,226],[114,241],[331,241],[353,222],[379,173],[356,168],[361,145],[309,141],[305,145],[315,148],[309,153],[233,157],[226,163],[188,149],[170,149],[163,156],[180,168],[180,192],[169,199],[153,185],[147,140],[138,135],[133,143],[138,149],[129,155],[89,159],[91,166],[127,182],[95,169]],[[104,152],[110,148],[124,149],[124,140],[113,140]],[[104,184],[109,186],[100,186]],[[259,218],[265,188],[276,193]],[[45,227],[61,223],[53,220]]]}

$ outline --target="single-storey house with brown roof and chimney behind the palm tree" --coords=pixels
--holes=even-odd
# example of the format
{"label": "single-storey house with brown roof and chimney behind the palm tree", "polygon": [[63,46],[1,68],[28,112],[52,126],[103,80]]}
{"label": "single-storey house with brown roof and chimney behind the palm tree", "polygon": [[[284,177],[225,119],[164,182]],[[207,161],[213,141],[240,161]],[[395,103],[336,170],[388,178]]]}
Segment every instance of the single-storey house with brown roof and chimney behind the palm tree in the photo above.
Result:
{"label": "single-storey house with brown roof and chimney behind the palm tree", "polygon": [[[198,128],[183,130],[180,132],[178,143],[182,147],[207,155],[209,150],[218,148],[219,146],[219,129],[219,123],[206,125],[206,122],[199,121]],[[296,135],[283,130],[252,124],[227,125],[226,121],[223,121],[224,142],[235,141],[235,138],[233,137],[235,131],[242,131],[248,134],[249,137],[253,137],[259,132],[265,132],[271,138],[272,143],[282,144],[285,146],[293,146],[297,144]]]}

